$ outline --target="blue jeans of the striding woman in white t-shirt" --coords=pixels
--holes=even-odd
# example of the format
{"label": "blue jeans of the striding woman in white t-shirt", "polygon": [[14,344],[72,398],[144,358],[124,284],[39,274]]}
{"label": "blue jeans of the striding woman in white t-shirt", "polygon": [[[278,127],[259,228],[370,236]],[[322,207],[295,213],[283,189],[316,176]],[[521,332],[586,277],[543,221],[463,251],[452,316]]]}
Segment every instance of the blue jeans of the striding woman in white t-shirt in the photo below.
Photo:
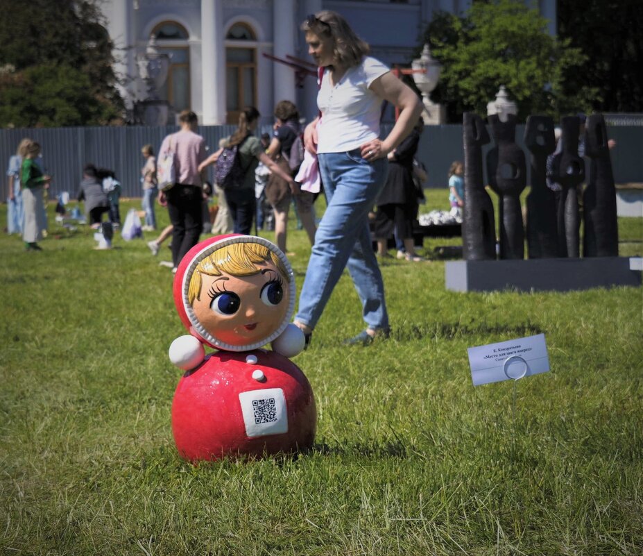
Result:
{"label": "blue jeans of the striding woman in white t-shirt", "polygon": [[315,328],[343,269],[362,303],[368,328],[388,328],[384,283],[372,248],[368,212],[384,187],[388,162],[367,162],[359,149],[318,156],[327,208],[315,235],[295,319]]}

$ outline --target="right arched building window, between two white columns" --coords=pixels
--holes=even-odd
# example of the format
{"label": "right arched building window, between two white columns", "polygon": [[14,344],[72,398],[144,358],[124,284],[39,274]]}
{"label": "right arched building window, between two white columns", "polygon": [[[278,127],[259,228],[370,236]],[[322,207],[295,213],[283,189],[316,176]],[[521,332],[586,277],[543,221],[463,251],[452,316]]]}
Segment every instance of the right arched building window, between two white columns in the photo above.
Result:
{"label": "right arched building window, between two white columns", "polygon": [[[237,124],[244,106],[257,106],[257,37],[250,26],[236,23],[228,34],[225,49],[225,94],[228,124]],[[243,44],[243,42],[253,44]]]}

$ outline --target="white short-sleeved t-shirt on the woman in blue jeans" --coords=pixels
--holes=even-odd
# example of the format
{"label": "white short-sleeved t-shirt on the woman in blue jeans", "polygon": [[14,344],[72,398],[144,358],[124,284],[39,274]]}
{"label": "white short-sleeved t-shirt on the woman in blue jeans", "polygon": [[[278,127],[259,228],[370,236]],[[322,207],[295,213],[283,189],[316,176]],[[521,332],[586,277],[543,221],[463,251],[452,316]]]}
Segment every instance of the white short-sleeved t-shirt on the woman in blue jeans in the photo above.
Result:
{"label": "white short-sleeved t-shirt on the woman in blue jeans", "polygon": [[389,68],[364,56],[361,64],[347,69],[334,87],[326,71],[317,94],[317,106],[323,115],[317,152],[344,153],[379,137],[382,99],[368,87]]}

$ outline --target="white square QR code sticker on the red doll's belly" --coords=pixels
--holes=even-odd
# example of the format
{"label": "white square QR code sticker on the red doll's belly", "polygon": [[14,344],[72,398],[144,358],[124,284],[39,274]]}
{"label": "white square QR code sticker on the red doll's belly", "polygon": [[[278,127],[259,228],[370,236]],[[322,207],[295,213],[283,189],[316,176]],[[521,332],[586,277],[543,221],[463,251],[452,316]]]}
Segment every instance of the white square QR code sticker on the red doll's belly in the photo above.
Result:
{"label": "white square QR code sticker on the red doll's belly", "polygon": [[280,435],[288,432],[286,396],[281,388],[241,392],[239,403],[248,437]]}

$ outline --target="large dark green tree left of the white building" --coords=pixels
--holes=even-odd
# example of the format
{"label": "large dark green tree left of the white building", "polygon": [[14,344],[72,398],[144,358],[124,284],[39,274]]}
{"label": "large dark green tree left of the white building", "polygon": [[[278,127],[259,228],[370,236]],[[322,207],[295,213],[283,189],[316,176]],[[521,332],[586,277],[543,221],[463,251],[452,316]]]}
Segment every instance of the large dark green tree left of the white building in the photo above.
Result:
{"label": "large dark green tree left of the white building", "polygon": [[5,0],[0,126],[119,122],[112,43],[95,0]]}

